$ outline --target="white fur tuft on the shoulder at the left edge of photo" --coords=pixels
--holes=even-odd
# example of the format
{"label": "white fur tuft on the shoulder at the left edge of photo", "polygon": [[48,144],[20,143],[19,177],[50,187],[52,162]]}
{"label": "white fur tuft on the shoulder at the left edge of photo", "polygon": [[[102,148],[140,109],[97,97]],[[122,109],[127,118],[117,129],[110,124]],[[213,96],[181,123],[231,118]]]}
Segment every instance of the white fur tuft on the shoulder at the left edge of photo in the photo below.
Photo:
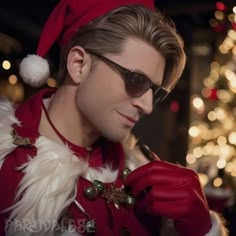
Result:
{"label": "white fur tuft on the shoulder at the left edge of photo", "polygon": [[16,145],[13,144],[12,124],[20,125],[20,122],[14,115],[15,109],[10,101],[6,98],[0,98],[0,169],[2,167],[4,157],[12,152]]}

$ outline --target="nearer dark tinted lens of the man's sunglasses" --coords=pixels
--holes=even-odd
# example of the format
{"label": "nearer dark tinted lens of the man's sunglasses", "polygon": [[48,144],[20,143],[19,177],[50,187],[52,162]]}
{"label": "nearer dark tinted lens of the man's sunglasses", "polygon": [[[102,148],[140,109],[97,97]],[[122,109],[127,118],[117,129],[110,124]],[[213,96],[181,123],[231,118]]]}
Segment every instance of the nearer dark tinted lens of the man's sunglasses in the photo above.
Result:
{"label": "nearer dark tinted lens of the man's sunglasses", "polygon": [[125,88],[131,97],[140,97],[150,88],[150,82],[142,74],[129,72],[125,74]]}

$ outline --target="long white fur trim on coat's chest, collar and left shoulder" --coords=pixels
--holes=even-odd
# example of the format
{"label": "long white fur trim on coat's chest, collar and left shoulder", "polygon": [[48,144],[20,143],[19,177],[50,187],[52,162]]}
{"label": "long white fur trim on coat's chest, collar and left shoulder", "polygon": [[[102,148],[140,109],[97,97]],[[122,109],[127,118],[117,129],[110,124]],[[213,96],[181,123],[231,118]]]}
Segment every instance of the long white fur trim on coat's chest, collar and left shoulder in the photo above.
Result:
{"label": "long white fur trim on coat's chest, collar and left shoulder", "polygon": [[[11,125],[20,125],[20,122],[14,112],[7,99],[0,100],[0,164],[4,157],[17,147],[13,144]],[[34,146],[38,150],[37,155],[29,157],[29,161],[19,167],[19,170],[24,172],[24,177],[18,186],[16,203],[5,210],[11,210],[7,235],[15,235],[16,227],[27,223],[24,220],[28,221],[28,225],[29,222],[40,222],[40,225],[33,224],[33,228],[27,225],[29,234],[25,230],[21,232],[22,229],[18,228],[17,235],[33,235],[30,233],[32,230],[40,232],[40,228],[48,222],[57,222],[63,210],[75,200],[80,176],[90,181],[97,179],[113,182],[118,175],[118,170],[114,171],[109,166],[90,168],[87,160],[78,158],[68,147],[46,137],[40,136]],[[53,232],[52,228],[50,232]],[[50,232],[45,235],[50,235]],[[63,235],[78,234],[65,231]]]}

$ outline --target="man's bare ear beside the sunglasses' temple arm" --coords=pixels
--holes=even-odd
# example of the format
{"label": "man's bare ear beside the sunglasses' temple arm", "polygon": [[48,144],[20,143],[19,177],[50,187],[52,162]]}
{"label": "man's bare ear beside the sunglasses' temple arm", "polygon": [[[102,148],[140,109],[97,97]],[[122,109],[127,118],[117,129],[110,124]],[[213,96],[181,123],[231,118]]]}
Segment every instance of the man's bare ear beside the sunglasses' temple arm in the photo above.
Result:
{"label": "man's bare ear beside the sunglasses' temple arm", "polygon": [[67,56],[67,71],[71,80],[79,84],[91,68],[91,58],[80,46],[74,46]]}

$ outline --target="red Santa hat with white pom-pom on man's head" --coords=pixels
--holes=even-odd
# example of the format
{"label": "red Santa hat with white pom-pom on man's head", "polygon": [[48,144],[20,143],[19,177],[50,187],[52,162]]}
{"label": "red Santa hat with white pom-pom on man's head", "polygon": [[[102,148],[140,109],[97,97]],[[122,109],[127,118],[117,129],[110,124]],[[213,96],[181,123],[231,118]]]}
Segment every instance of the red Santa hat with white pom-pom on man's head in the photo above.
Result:
{"label": "red Santa hat with white pom-pom on man's head", "polygon": [[61,0],[42,29],[37,55],[28,55],[20,64],[20,75],[25,83],[39,87],[47,81],[49,64],[43,57],[55,42],[63,46],[79,27],[115,8],[131,4],[154,9],[153,0]]}

